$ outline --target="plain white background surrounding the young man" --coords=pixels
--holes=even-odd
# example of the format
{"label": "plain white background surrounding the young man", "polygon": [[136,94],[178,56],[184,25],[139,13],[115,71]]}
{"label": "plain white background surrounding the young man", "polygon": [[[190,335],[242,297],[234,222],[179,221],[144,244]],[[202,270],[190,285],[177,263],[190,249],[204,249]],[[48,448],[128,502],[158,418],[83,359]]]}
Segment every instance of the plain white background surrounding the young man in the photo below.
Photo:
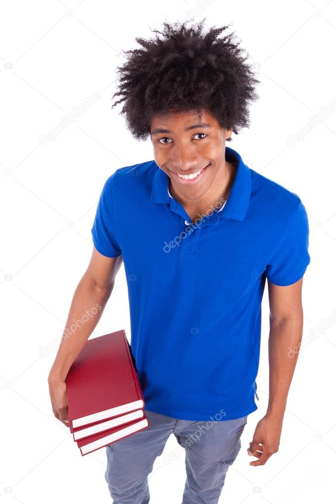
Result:
{"label": "plain white background surrounding the young man", "polygon": [[[260,401],[220,502],[330,502],[336,466],[336,2],[49,0],[3,2],[1,11],[0,504],[111,502],[105,449],[80,455],[69,429],[53,416],[47,376],[91,257],[103,183],[119,167],[153,159],[150,140],[136,142],[126,130],[121,105],[111,110],[115,70],[124,61],[120,50],[139,47],[135,37],[152,37],[151,28],[162,29],[163,21],[190,16],[207,18],[206,27],[232,23],[248,50],[261,80],[260,98],[251,107],[251,127],[233,135],[228,146],[250,168],[298,194],[310,227],[303,347],[280,450],[264,466],[249,466],[246,449],[268,397],[265,288]],[[39,143],[96,92],[102,97],[74,123]],[[313,116],[315,127],[309,125]],[[302,139],[289,143],[299,131]],[[122,328],[129,338],[123,266],[92,336]],[[163,464],[177,446],[170,436],[155,462],[153,504],[182,500],[184,455]]]}

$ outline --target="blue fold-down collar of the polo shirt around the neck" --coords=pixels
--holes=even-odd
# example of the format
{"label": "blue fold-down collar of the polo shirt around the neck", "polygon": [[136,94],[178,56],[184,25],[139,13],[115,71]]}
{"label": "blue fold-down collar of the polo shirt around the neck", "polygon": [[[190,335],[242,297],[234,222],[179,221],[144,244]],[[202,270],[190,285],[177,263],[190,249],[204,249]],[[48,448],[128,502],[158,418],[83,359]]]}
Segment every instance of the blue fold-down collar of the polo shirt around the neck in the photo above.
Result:
{"label": "blue fold-down collar of the polo shirt around the neck", "polygon": [[[243,162],[241,156],[234,149],[225,147],[226,161],[237,163],[237,170],[233,185],[227,202],[219,210],[220,217],[227,219],[244,220],[251,196],[251,170]],[[153,177],[153,187],[151,201],[153,203],[169,203],[169,176],[156,166],[156,172]]]}

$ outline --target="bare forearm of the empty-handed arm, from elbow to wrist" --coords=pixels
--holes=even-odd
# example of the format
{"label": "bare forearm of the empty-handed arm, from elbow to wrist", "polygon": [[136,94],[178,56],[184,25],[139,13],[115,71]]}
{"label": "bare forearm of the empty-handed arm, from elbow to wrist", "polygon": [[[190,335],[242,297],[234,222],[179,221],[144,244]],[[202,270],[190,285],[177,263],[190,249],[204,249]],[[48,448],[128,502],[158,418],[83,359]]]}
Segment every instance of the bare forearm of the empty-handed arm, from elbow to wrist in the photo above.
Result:
{"label": "bare forearm of the empty-handed arm, from elbow to wrist", "polygon": [[291,349],[300,346],[303,318],[270,320],[268,362],[270,365],[270,392],[267,415],[283,417],[287,396],[296,366],[298,352]]}

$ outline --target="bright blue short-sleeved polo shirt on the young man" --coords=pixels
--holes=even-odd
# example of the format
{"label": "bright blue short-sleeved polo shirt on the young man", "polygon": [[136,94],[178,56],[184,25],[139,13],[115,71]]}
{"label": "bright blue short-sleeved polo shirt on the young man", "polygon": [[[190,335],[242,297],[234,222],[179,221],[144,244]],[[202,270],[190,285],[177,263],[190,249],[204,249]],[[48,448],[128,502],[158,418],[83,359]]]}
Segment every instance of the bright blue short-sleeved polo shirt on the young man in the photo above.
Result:
{"label": "bright blue short-sleeved polo shirt on the young man", "polygon": [[310,263],[300,198],[235,150],[225,158],[237,163],[228,200],[198,221],[151,160],[107,178],[92,227],[102,255],[122,255],[145,408],[184,420],[257,409],[265,280],[293,284]]}

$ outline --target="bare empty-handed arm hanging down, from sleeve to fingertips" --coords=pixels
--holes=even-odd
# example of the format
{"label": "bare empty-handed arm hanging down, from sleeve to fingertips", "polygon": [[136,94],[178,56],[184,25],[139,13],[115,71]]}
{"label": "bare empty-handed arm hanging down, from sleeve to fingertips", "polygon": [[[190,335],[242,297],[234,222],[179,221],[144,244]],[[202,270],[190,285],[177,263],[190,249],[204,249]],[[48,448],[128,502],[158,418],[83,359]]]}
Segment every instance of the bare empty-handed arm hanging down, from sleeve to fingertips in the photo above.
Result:
{"label": "bare empty-handed arm hanging down, from sleeve to fingertips", "polygon": [[249,455],[259,459],[250,462],[252,466],[263,465],[279,450],[287,396],[298,358],[293,348],[299,348],[302,339],[302,281],[303,277],[285,287],[268,281],[270,394],[266,415],[258,422],[248,450]]}

